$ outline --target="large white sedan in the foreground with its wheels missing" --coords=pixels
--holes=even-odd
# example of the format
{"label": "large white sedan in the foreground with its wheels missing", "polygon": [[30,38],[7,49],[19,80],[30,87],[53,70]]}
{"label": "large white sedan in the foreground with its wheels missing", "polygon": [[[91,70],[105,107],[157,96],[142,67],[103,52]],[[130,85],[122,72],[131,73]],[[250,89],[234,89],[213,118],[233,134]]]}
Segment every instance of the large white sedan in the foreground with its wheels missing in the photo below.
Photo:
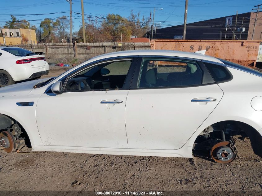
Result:
{"label": "large white sedan in the foreground with its wheels missing", "polygon": [[192,157],[218,163],[245,132],[262,156],[262,74],[197,53],[103,54],[56,78],[0,89],[1,145],[34,151]]}

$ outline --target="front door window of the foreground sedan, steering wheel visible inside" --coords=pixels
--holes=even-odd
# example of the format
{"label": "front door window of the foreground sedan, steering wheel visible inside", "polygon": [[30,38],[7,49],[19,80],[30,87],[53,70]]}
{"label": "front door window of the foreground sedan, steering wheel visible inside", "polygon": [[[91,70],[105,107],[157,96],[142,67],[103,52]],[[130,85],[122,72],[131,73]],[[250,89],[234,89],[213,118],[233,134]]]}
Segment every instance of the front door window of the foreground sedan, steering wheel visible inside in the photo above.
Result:
{"label": "front door window of the foreground sedan, steering wheel visible inside", "polygon": [[131,62],[130,59],[120,60],[87,68],[69,78],[64,92],[122,89]]}

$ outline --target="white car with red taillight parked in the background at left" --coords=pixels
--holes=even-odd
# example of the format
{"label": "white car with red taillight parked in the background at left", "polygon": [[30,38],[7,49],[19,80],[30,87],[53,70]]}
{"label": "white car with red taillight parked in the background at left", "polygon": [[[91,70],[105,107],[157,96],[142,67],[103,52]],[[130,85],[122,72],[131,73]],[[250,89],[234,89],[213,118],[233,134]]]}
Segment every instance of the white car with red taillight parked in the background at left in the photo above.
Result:
{"label": "white car with red taillight parked in the background at left", "polygon": [[43,52],[0,46],[0,87],[47,75],[48,72],[49,65]]}

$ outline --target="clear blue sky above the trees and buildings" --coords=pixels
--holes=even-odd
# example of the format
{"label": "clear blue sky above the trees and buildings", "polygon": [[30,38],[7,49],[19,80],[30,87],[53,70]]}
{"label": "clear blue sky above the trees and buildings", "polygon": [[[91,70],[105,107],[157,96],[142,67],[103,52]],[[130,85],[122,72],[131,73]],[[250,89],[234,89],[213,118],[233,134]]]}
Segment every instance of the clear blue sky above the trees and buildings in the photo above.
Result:
{"label": "clear blue sky above the trees and buildings", "polygon": [[[74,13],[81,13],[81,0],[72,2],[74,32],[82,25],[81,15]],[[262,3],[262,0],[189,0],[187,23],[234,15],[236,11],[249,12],[259,3]],[[133,10],[134,13],[140,12],[140,15],[149,17],[152,10],[153,18],[155,7],[155,21],[161,27],[167,27],[183,24],[184,4],[185,0],[84,0],[84,12],[93,16],[104,17],[107,13],[115,13],[127,17]],[[69,9],[66,0],[2,0],[0,26],[10,20],[10,14],[13,14],[18,19],[28,20],[30,24],[38,27],[45,18],[56,20],[56,17],[62,15],[69,16]]]}

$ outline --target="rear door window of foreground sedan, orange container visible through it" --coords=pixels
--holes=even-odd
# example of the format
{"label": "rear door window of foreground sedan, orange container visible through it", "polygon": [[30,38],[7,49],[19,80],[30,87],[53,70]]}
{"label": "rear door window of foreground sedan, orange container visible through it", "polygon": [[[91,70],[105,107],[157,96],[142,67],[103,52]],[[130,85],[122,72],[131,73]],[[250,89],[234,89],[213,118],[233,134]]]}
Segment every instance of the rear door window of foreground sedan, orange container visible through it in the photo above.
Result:
{"label": "rear door window of foreground sedan, orange container visible through it", "polygon": [[203,72],[196,61],[144,59],[139,87],[190,86],[202,84]]}

